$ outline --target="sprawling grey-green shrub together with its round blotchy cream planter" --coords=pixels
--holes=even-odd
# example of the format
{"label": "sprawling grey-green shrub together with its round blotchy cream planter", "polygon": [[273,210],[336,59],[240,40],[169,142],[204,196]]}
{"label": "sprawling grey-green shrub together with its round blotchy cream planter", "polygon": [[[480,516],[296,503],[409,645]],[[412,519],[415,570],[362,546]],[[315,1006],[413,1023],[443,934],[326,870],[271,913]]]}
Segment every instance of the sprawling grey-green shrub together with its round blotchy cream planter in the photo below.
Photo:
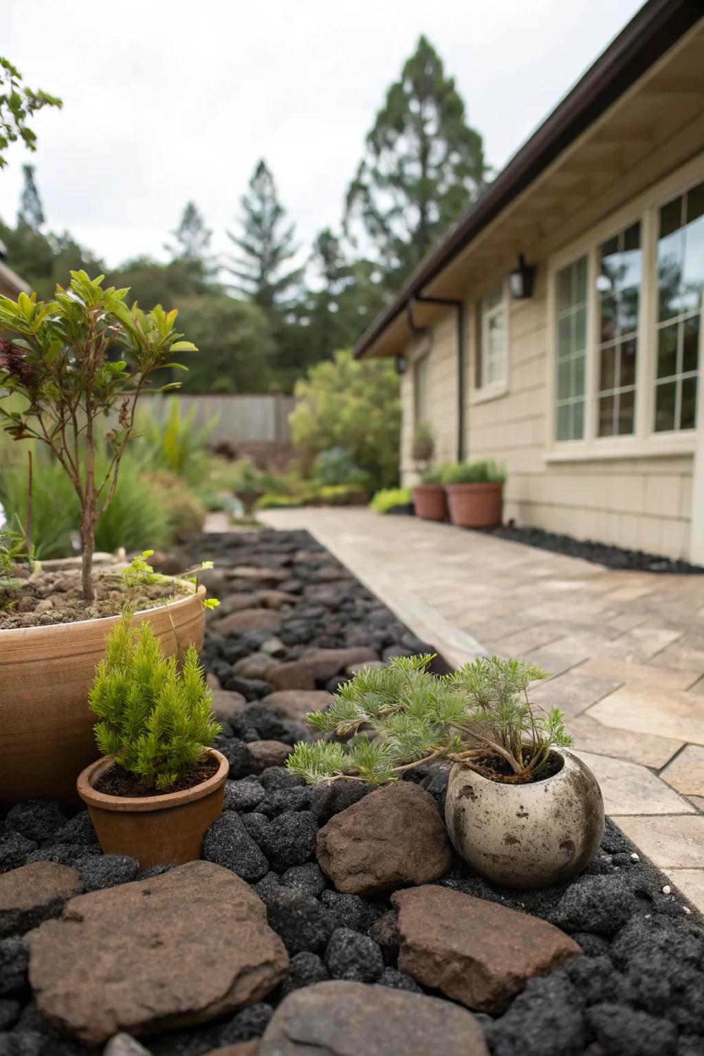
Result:
{"label": "sprawling grey-green shrub together with its round blotchy cream planter", "polygon": [[[526,660],[479,657],[452,675],[431,656],[394,657],[340,686],[317,730],[345,743],[299,742],[286,766],[310,784],[396,781],[450,759],[445,824],[465,862],[506,887],[543,887],[581,872],[604,831],[591,771],[571,752],[557,708],[540,713],[529,686],[548,673]],[[358,730],[368,723],[369,739]]]}

